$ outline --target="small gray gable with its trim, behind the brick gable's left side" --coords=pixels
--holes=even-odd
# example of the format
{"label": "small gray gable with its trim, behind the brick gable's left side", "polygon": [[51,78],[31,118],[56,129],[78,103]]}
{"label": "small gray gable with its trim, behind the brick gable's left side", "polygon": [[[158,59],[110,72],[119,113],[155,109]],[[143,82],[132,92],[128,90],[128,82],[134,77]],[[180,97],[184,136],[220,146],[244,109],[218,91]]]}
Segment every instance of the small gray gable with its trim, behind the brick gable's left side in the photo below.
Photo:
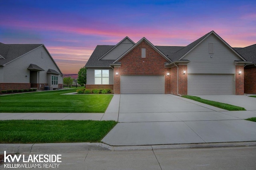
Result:
{"label": "small gray gable with its trim, behind the brick gable's left side", "polygon": [[129,37],[125,37],[107,53],[102,55],[102,57],[100,57],[98,60],[116,60],[134,44],[135,43]]}

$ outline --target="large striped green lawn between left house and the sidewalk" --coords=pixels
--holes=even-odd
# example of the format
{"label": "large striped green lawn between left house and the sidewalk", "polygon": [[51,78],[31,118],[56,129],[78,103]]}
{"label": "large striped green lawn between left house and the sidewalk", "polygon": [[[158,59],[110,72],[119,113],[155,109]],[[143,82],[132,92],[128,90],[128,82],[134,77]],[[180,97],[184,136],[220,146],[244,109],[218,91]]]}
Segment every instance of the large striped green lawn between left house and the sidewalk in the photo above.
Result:
{"label": "large striped green lawn between left house and the sidewalk", "polygon": [[0,96],[0,112],[104,113],[113,95],[61,95],[76,92],[54,90]]}

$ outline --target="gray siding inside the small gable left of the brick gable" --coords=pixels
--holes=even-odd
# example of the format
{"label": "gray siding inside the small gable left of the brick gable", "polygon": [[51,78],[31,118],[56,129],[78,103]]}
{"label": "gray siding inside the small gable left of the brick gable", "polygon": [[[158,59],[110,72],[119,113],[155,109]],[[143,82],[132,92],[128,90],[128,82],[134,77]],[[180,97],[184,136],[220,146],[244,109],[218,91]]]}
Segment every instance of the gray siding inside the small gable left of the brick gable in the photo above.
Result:
{"label": "gray siding inside the small gable left of the brick gable", "polygon": [[112,51],[110,51],[108,54],[102,57],[101,60],[116,60],[118,59],[118,57],[124,54],[124,52],[130,49],[133,45],[134,44],[130,40],[125,39],[122,43],[120,43],[118,46],[112,49]]}

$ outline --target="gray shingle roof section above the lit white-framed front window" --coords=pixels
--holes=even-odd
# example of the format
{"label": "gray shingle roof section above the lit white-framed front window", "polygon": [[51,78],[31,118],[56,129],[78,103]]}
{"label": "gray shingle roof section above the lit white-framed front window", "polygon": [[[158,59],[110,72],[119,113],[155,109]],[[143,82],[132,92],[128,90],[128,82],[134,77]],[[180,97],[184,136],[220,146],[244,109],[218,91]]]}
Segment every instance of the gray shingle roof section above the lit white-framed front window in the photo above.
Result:
{"label": "gray shingle roof section above the lit white-framed front window", "polygon": [[85,67],[110,67],[114,60],[98,60],[102,55],[112,49],[114,45],[97,45]]}

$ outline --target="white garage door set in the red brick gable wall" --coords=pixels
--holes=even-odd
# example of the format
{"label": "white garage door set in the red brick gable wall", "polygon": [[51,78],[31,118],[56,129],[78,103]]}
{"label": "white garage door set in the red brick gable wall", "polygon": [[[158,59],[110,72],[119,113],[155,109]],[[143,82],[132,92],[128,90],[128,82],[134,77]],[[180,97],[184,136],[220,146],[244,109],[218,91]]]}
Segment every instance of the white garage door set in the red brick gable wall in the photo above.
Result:
{"label": "white garage door set in the red brick gable wall", "polygon": [[121,94],[164,94],[164,76],[121,76]]}

